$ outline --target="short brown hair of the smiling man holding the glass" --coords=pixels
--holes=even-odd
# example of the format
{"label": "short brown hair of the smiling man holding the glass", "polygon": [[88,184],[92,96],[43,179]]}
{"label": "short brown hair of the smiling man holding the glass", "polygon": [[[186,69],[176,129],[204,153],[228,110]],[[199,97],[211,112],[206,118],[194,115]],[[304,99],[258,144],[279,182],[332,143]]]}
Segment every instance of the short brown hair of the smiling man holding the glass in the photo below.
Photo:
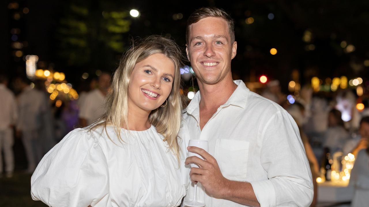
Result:
{"label": "short brown hair of the smiling man holding the glass", "polygon": [[187,27],[186,27],[186,43],[188,44],[188,38],[190,33],[190,25],[200,21],[203,18],[206,17],[220,17],[223,18],[227,24],[228,24],[228,31],[231,36],[231,42],[235,41],[234,36],[234,23],[235,21],[232,19],[231,15],[229,15],[227,12],[225,12],[221,8],[216,7],[202,7],[194,11],[189,18],[187,19]]}

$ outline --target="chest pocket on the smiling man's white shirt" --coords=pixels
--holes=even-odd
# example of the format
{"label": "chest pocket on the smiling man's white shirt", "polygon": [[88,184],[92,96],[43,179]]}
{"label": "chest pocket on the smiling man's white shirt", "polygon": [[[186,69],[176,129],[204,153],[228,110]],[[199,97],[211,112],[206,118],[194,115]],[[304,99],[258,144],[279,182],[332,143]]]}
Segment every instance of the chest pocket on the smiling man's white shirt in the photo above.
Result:
{"label": "chest pocket on the smiling man's white shirt", "polygon": [[215,159],[223,176],[230,180],[245,180],[248,153],[248,141],[217,139],[215,143]]}

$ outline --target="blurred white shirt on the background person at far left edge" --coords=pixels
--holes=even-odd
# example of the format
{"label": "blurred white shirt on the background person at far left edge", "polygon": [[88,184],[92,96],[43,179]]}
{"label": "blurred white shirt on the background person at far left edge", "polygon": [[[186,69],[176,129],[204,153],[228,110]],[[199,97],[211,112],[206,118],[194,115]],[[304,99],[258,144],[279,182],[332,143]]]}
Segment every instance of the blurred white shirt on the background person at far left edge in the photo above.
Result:
{"label": "blurred white shirt on the background person at far left edge", "polygon": [[13,92],[4,84],[0,84],[0,98],[0,130],[5,130],[17,120],[17,103]]}

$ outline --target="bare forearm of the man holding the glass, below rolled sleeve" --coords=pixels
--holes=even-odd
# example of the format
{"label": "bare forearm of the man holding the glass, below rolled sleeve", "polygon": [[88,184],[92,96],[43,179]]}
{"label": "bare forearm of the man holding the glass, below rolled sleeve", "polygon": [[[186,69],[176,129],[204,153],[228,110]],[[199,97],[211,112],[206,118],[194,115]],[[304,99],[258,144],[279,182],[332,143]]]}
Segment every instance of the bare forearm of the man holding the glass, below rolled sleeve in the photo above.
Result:
{"label": "bare forearm of the man holding the glass, below rolled sleeve", "polygon": [[227,199],[248,206],[260,206],[251,183],[227,180],[221,199]]}

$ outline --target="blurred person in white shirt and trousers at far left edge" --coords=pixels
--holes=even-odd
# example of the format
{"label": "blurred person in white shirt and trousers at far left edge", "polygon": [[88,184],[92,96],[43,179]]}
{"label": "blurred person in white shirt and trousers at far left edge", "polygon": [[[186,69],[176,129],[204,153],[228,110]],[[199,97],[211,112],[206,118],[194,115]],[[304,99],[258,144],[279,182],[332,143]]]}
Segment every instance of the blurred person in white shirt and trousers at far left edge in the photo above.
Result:
{"label": "blurred person in white shirt and trousers at far left edge", "polygon": [[13,127],[17,120],[17,103],[13,92],[7,88],[8,79],[0,74],[0,176],[3,173],[3,158],[1,151],[4,152],[5,173],[7,177],[13,176],[14,153],[13,153]]}

